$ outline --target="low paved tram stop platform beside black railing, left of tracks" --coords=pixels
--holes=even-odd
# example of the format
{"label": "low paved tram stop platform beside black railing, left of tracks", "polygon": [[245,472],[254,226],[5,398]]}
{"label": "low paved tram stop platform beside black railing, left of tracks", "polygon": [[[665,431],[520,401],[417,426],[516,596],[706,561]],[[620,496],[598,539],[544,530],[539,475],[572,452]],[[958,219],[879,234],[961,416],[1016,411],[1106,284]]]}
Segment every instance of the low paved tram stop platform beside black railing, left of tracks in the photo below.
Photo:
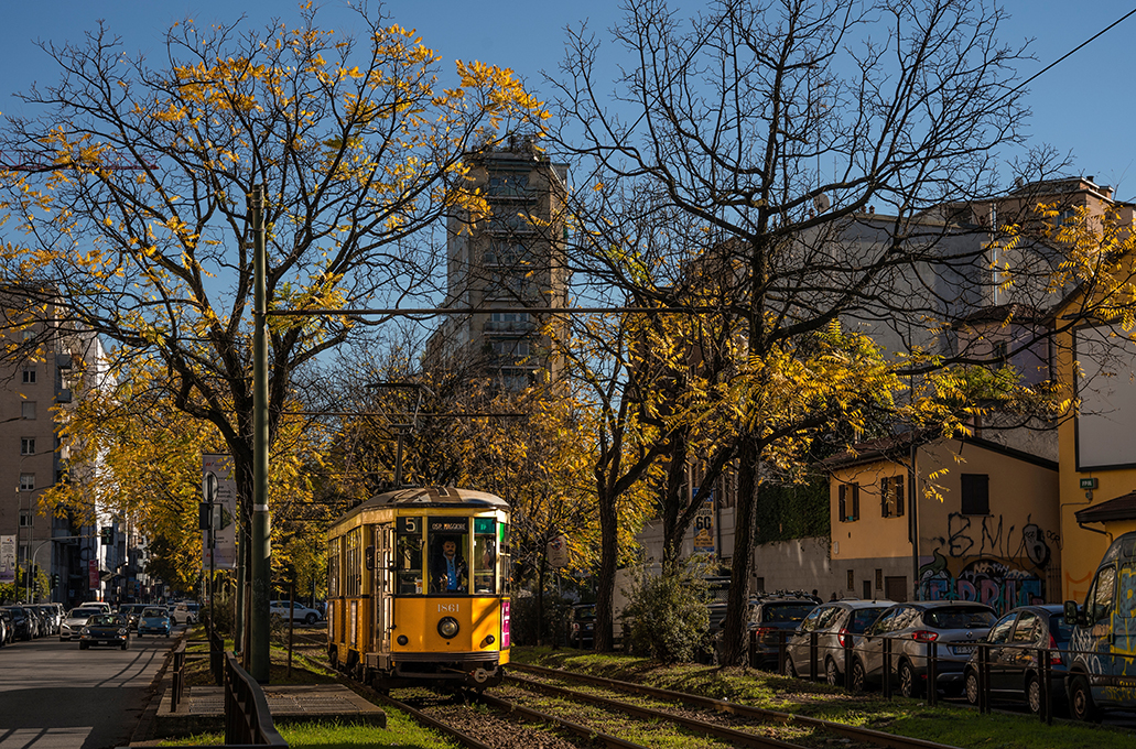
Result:
{"label": "low paved tram stop platform beside black railing, left of tracks", "polygon": [[[386,727],[386,713],[342,684],[267,684],[261,688],[277,726],[290,722],[336,721]],[[223,687],[190,687],[176,710],[170,691],[161,696],[151,723],[153,739],[225,731]]]}

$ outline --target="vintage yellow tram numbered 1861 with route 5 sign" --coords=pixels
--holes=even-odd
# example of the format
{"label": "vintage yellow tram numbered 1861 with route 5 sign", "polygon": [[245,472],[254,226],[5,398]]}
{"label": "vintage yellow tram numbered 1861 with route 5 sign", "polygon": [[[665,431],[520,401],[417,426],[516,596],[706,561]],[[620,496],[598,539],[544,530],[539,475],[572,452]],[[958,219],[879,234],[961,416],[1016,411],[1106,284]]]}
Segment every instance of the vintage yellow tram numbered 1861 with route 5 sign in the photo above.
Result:
{"label": "vintage yellow tram numbered 1861 with route 5 sign", "polygon": [[327,531],[327,655],[376,688],[486,687],[509,662],[509,506],[484,491],[377,495]]}

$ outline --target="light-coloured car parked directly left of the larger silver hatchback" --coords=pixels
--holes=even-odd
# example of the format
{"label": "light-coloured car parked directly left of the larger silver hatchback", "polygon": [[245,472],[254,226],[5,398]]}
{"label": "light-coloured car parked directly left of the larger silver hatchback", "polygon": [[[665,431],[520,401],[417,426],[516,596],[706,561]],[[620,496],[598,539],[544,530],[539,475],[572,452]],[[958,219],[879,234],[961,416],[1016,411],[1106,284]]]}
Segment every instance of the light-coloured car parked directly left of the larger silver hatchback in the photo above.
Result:
{"label": "light-coloured car parked directly left of the larger silver hatchback", "polygon": [[817,675],[829,684],[844,683],[845,646],[854,648],[860,636],[894,601],[891,600],[832,600],[812,609],[785,646],[785,674],[788,676],[811,673],[812,636],[817,636]]}

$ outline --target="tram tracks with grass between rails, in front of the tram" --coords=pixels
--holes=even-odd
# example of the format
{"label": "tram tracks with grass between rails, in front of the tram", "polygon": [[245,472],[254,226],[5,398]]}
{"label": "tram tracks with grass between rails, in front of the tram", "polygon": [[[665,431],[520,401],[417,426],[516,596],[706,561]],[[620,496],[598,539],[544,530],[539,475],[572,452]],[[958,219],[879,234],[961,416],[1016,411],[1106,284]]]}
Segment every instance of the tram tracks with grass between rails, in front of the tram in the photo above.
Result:
{"label": "tram tracks with grass between rails, in front of the tram", "polygon": [[[638,749],[663,744],[691,749],[949,749],[919,739],[685,692],[518,664],[512,664],[512,670],[536,678],[510,674],[506,684],[492,692],[468,693],[470,700],[493,713],[457,697],[423,697],[425,690],[414,690],[417,695],[399,690],[407,696],[400,693],[398,700],[391,700],[392,706],[476,749]],[[576,689],[565,682],[586,685]]]}

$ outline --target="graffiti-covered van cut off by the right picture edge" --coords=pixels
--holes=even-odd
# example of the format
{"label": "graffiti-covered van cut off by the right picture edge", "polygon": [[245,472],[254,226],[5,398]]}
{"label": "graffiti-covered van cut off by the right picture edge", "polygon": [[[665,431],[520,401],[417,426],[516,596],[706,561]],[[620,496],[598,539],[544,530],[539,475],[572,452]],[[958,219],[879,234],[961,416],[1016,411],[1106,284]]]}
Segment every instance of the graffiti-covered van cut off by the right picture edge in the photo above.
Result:
{"label": "graffiti-covered van cut off by the right picture edge", "polygon": [[1064,604],[1069,637],[1069,714],[1078,721],[1099,721],[1102,710],[1136,709],[1136,668],[1133,632],[1136,606],[1136,531],[1112,541],[1101,558],[1084,605]]}

